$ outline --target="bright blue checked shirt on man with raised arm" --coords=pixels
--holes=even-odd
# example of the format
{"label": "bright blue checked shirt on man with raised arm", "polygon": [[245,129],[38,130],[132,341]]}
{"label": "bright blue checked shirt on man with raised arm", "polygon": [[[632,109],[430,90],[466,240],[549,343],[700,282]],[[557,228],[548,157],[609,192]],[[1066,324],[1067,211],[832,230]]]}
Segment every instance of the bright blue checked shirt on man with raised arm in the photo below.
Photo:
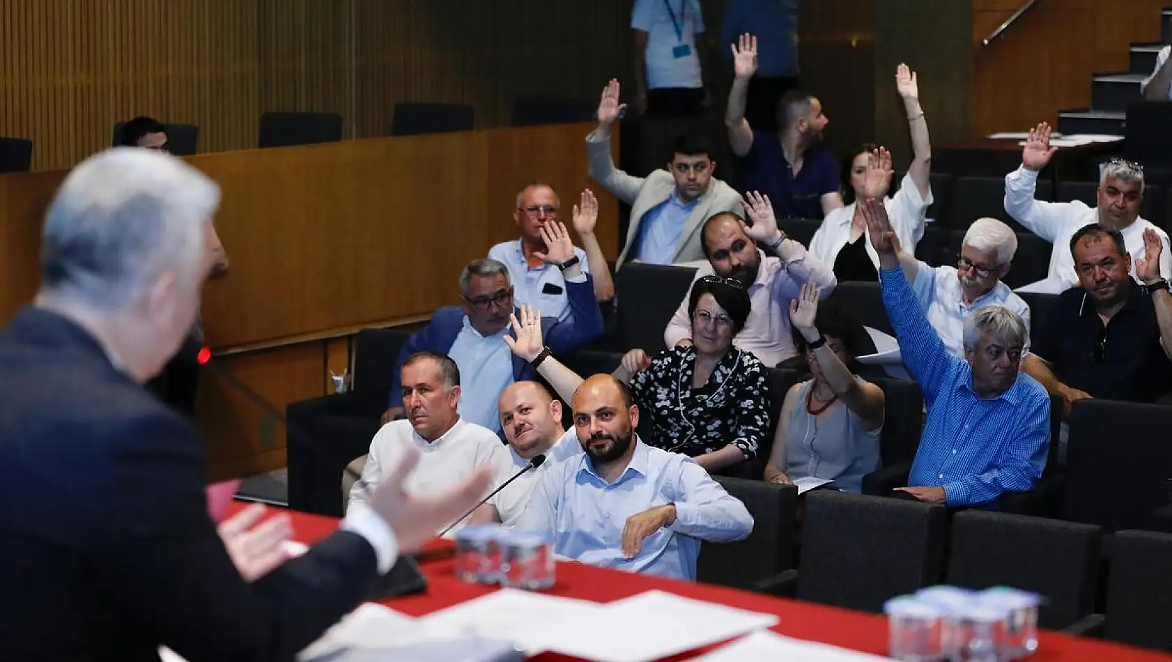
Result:
{"label": "bright blue checked shirt on man with raised arm", "polygon": [[1006,393],[973,391],[968,362],[948,353],[899,268],[880,271],[883,302],[904,363],[920,382],[928,421],[908,484],[942,486],[945,503],[969,506],[1034,487],[1050,443],[1050,397],[1024,373]]}

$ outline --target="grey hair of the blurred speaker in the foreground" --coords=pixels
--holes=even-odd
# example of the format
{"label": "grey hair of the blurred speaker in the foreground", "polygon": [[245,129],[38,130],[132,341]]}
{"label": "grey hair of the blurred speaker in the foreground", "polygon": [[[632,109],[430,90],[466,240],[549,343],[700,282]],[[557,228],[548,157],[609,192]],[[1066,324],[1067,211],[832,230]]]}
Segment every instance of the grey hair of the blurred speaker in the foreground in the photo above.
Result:
{"label": "grey hair of the blurred speaker in the foreground", "polygon": [[46,213],[41,292],[116,310],[165,272],[196,278],[219,199],[214,182],[158,150],[88,158]]}

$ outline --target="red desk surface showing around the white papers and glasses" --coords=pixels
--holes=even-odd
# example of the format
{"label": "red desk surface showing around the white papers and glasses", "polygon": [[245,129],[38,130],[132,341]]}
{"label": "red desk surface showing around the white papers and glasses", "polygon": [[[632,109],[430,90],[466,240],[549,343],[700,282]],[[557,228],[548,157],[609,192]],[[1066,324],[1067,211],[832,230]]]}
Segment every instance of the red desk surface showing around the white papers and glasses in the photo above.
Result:
{"label": "red desk surface showing around the white papers and glasses", "polygon": [[[291,514],[293,516],[293,535],[301,542],[315,542],[338,527],[338,521],[332,518],[298,512]],[[384,605],[404,614],[421,616],[496,591],[492,587],[465,583],[456,579],[451,560],[423,562],[420,568],[428,579],[427,593],[388,600]],[[777,614],[781,622],[772,629],[786,636],[820,641],[877,655],[886,655],[887,653],[887,620],[883,616],[720,586],[688,583],[571,562],[558,564],[557,585],[547,593],[595,602],[609,602],[652,589],[729,605],[741,609]],[[672,660],[687,660],[693,656],[683,655]],[[563,660],[564,657],[545,654],[537,658]],[[1030,660],[1036,662],[1057,660],[1146,662],[1170,658],[1172,656],[1157,651],[1044,632],[1040,635],[1038,653]]]}

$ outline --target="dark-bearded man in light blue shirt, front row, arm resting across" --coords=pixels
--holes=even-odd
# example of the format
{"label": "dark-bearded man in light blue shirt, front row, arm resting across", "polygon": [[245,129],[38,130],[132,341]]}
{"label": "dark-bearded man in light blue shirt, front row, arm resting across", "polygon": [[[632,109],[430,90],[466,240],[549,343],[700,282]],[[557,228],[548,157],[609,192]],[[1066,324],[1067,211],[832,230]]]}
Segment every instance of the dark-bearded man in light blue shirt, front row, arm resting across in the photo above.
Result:
{"label": "dark-bearded man in light blue shirt, front row, arm resting across", "polygon": [[744,504],[699,464],[639,441],[626,384],[594,375],[573,400],[585,453],[545,472],[517,530],[552,535],[558,555],[584,564],[688,581],[701,540],[752,532]]}

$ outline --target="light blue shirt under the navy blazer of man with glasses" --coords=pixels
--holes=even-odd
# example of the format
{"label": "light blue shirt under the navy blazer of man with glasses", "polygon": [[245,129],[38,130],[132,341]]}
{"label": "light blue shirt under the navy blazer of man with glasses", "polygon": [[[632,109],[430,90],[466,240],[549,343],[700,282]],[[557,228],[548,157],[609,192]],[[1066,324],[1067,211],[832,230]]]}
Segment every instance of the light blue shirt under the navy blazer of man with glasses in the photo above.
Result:
{"label": "light blue shirt under the navy blazer of man with glasses", "polygon": [[483,336],[472,328],[468,315],[464,315],[464,326],[448,350],[448,356],[459,368],[461,383],[476,384],[475,389],[461,389],[459,415],[498,435],[500,416],[497,414],[497,401],[513,383],[512,353],[505,344],[507,333],[509,327],[505,327],[490,336]]}

